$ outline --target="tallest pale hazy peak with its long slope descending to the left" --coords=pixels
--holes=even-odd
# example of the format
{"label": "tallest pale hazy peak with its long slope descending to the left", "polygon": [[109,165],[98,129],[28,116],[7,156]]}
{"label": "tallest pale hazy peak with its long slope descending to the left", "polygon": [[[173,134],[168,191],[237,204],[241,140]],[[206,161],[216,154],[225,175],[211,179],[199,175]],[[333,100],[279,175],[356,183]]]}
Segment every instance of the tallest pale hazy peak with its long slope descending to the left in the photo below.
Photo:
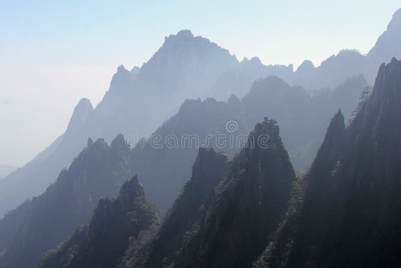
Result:
{"label": "tallest pale hazy peak with its long slope descending to the left", "polygon": [[142,68],[128,71],[119,66],[93,112],[78,108],[86,102],[77,105],[71,120],[85,123],[78,127],[70,123],[66,133],[72,136],[59,138],[45,156],[37,157],[40,161],[32,161],[0,182],[0,215],[42,193],[60,169],[71,164],[88,137],[111,142],[118,133],[127,135],[134,128],[140,135],[150,135],[186,98],[206,97],[219,74],[237,65],[227,50],[184,30],[166,37]]}

